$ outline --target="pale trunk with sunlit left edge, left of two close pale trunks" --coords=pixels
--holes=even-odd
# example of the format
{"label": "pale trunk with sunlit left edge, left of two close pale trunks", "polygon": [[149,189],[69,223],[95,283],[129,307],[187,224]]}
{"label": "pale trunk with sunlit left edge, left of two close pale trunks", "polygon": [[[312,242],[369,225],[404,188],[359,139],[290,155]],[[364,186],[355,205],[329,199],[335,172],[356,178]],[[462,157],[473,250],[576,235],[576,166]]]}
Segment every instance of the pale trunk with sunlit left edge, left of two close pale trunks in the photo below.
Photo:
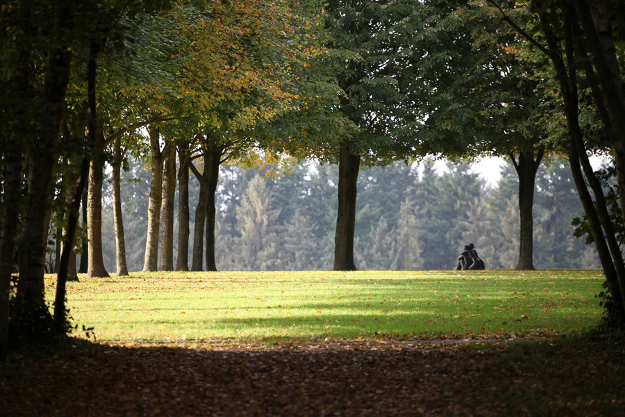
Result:
{"label": "pale trunk with sunlit left edge, left of two close pale trunks", "polygon": [[148,203],[148,229],[145,242],[143,271],[156,271],[158,268],[158,222],[160,222],[160,202],[163,197],[163,154],[160,151],[160,134],[152,126],[148,129],[151,152],[151,186]]}

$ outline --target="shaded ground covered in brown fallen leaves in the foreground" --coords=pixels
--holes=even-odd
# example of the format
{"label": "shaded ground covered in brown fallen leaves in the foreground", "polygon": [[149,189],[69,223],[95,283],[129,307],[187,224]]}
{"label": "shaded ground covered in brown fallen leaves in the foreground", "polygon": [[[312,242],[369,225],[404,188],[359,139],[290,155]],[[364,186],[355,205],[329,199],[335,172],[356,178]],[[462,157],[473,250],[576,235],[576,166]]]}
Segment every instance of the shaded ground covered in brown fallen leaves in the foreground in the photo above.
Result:
{"label": "shaded ground covered in brown fallen leaves in the foreground", "polygon": [[0,416],[625,416],[625,339],[78,343],[0,363]]}

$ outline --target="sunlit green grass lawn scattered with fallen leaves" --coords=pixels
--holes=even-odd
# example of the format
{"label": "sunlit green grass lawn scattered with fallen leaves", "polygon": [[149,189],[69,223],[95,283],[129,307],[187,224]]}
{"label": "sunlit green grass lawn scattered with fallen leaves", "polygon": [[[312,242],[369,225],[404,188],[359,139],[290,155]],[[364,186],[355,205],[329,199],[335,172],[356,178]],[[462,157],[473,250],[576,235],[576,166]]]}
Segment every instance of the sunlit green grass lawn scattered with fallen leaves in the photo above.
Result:
{"label": "sunlit green grass lawn scattered with fallen leaves", "polygon": [[[68,283],[100,341],[532,336],[599,324],[599,270],[135,272]],[[47,277],[53,294],[54,277]]]}

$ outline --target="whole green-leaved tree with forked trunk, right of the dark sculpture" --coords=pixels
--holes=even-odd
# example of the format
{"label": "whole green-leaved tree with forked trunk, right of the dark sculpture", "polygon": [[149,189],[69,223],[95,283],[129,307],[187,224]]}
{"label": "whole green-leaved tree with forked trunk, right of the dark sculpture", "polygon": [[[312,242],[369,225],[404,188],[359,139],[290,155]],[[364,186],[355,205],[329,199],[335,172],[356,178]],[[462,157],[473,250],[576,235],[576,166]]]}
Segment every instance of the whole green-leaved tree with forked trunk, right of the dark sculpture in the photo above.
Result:
{"label": "whole green-leaved tree with forked trunk, right of the dark sculpture", "polygon": [[[449,3],[449,2],[447,2]],[[419,153],[469,161],[504,156],[518,177],[520,241],[517,269],[533,265],[535,174],[554,151],[554,106],[540,88],[540,65],[525,45],[494,18],[484,2],[431,8],[415,42],[421,56],[419,83],[427,85]],[[507,6],[506,6],[507,7]],[[511,7],[511,6],[510,6]],[[519,19],[528,10],[514,10]]]}

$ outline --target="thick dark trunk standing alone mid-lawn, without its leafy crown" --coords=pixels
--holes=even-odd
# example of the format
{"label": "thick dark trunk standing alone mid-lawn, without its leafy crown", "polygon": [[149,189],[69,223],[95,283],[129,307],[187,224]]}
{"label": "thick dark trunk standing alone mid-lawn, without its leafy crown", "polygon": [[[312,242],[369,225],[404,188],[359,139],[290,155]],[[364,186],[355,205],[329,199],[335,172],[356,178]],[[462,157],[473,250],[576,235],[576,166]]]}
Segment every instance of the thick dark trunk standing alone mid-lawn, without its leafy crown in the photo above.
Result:
{"label": "thick dark trunk standing alone mid-lawn, without its leafy crown", "polygon": [[356,229],[356,195],[360,156],[343,146],[339,155],[338,214],[334,236],[334,270],[353,271],[353,236]]}

